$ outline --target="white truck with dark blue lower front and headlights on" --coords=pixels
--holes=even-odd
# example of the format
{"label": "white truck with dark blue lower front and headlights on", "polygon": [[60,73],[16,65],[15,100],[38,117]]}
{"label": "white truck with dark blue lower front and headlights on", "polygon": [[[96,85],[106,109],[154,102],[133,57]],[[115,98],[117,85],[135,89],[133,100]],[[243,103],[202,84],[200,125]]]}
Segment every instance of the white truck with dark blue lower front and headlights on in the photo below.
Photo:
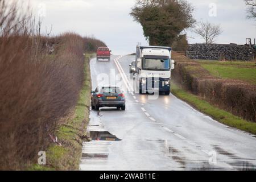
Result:
{"label": "white truck with dark blue lower front and headlights on", "polygon": [[170,94],[171,47],[137,46],[135,60],[135,80],[139,93]]}

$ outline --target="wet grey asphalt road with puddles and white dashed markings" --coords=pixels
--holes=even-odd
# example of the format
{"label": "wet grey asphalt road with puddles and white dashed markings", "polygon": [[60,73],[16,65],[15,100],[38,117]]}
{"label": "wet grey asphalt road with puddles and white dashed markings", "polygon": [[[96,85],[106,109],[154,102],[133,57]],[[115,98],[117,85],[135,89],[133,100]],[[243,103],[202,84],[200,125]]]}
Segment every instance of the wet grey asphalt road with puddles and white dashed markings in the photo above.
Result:
{"label": "wet grey asphalt road with puddles and white dashed markings", "polygon": [[[121,72],[134,56],[90,62],[93,89]],[[128,79],[127,79],[128,80]],[[125,85],[125,84],[124,84]],[[256,166],[256,138],[222,125],[175,96],[126,93],[126,110],[91,111],[81,170],[247,170]],[[105,136],[99,140],[98,135]]]}

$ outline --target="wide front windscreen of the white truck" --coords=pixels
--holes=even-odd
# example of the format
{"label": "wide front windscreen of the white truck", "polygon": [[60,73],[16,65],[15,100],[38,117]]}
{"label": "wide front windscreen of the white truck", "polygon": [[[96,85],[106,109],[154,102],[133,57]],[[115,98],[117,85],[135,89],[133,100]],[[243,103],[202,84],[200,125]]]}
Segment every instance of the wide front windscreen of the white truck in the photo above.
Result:
{"label": "wide front windscreen of the white truck", "polygon": [[142,61],[142,69],[154,71],[170,70],[170,59],[147,59]]}

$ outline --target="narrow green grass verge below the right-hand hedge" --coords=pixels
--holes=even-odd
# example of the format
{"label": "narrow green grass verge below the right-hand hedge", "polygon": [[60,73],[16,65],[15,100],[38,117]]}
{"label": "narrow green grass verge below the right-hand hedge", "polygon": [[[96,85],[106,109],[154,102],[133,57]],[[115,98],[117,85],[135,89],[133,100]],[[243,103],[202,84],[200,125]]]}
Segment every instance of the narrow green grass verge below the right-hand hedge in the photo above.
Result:
{"label": "narrow green grass verge below the right-hand hedge", "polygon": [[197,110],[209,115],[213,119],[216,119],[225,125],[246,131],[254,135],[256,134],[256,123],[248,122],[225,110],[218,109],[218,107],[209,104],[209,102],[202,100],[200,97],[181,89],[180,86],[175,83],[172,83],[171,92],[176,97],[195,107]]}

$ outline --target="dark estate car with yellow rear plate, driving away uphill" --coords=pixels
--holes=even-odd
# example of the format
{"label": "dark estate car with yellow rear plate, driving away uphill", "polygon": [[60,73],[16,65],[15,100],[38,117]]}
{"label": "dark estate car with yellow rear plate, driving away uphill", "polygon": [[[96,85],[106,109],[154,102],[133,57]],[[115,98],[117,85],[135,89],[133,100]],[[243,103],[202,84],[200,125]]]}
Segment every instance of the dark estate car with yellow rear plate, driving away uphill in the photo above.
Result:
{"label": "dark estate car with yellow rear plate, driving away uphill", "polygon": [[97,87],[92,91],[91,105],[95,110],[99,110],[100,107],[117,107],[125,110],[125,95],[117,86]]}

